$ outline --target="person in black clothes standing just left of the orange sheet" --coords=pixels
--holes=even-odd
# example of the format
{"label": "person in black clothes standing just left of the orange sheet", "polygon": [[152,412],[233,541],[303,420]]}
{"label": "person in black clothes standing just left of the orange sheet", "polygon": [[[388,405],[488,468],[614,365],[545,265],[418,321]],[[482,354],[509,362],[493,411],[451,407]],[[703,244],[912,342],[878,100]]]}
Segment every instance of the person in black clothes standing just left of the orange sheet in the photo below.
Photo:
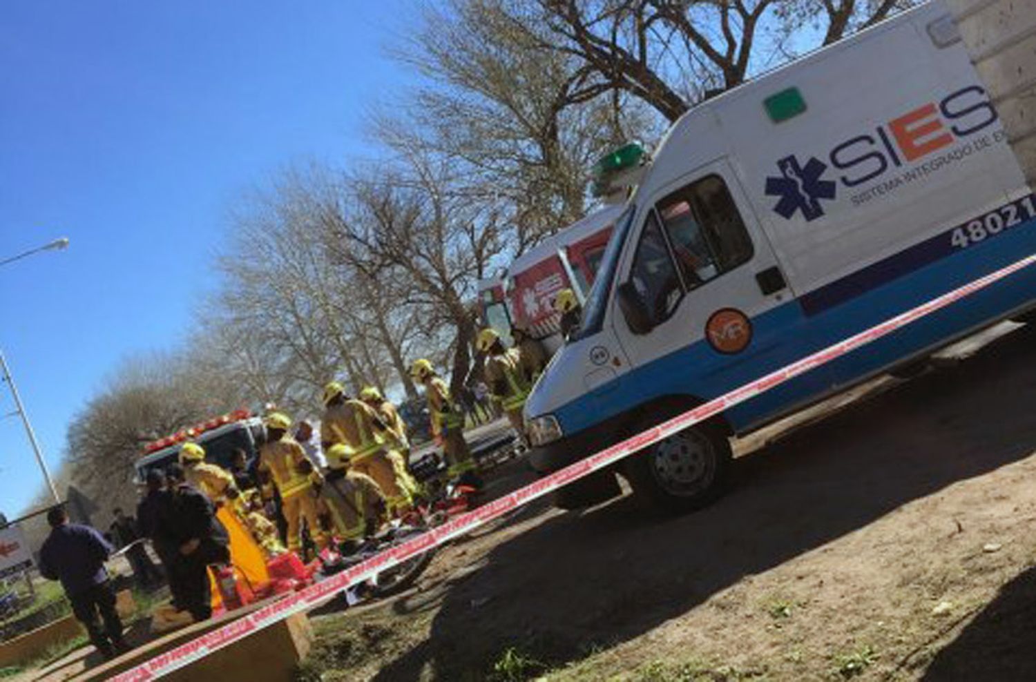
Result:
{"label": "person in black clothes standing just left of the orange sheet", "polygon": [[172,538],[176,546],[173,571],[179,583],[178,605],[195,621],[207,620],[212,617],[208,567],[230,561],[230,538],[208,497],[184,480],[183,467],[171,465],[167,476],[171,501],[160,518],[159,533]]}

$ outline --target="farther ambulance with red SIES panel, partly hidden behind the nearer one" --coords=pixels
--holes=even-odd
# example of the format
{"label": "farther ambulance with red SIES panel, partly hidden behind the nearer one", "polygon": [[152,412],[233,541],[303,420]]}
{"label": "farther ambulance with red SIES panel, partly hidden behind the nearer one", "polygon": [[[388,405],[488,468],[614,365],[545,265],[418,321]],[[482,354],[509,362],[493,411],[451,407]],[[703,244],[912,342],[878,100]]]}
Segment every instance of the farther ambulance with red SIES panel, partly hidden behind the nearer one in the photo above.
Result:
{"label": "farther ambulance with red SIES panel, partly hidden behind the nearer one", "polygon": [[479,283],[483,323],[510,343],[514,327],[543,340],[549,352],[562,345],[557,292],[572,289],[582,302],[621,206],[607,206],[573,223],[514,260],[499,277]]}

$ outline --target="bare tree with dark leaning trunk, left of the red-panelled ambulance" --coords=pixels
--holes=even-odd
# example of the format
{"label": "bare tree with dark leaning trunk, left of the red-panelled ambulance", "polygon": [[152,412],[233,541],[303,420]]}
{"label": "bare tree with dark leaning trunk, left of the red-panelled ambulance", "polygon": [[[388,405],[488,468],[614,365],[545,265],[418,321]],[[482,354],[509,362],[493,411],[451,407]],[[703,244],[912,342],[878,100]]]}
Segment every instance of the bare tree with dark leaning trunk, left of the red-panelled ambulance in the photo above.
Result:
{"label": "bare tree with dark leaning trunk, left of the red-panelled ambulance", "polygon": [[401,303],[420,310],[427,332],[452,330],[457,387],[470,367],[476,285],[502,248],[499,215],[454,191],[448,161],[418,147],[401,151],[394,168],[354,173],[324,194],[326,244],[371,280],[408,283]]}

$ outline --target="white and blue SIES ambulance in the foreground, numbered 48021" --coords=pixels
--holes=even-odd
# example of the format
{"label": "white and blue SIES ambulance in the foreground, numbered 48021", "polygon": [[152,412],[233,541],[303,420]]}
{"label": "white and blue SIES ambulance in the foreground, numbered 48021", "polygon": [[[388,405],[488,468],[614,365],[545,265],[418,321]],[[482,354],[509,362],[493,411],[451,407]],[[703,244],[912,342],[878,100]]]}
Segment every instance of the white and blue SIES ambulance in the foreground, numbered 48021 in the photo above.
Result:
{"label": "white and blue SIES ambulance in the foreground, numbered 48021", "polygon": [[[998,2],[977,27],[942,3],[901,13],[704,101],[653,153],[632,144],[598,164],[613,194],[635,188],[578,331],[525,404],[535,469],[1036,253],[1023,168],[1036,134],[1016,135],[1025,117],[1010,102],[1033,87],[1036,4],[954,8],[974,20]],[[1013,85],[1002,82],[1011,60]],[[557,504],[615,495],[621,474],[654,506],[699,508],[726,486],[731,437],[1034,303],[1030,267],[564,488]]]}

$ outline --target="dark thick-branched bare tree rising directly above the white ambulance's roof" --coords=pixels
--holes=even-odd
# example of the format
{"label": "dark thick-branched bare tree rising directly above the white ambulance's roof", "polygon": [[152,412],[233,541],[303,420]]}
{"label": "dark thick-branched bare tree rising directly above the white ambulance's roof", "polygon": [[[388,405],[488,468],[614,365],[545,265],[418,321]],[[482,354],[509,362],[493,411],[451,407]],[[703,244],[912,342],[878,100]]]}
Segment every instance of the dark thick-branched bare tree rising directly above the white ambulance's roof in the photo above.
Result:
{"label": "dark thick-branched bare tree rising directly above the white ambulance's roof", "polygon": [[[667,121],[803,49],[918,0],[534,0],[508,3],[514,30],[578,61],[569,101],[627,92]],[[793,49],[792,46],[795,46]]]}

